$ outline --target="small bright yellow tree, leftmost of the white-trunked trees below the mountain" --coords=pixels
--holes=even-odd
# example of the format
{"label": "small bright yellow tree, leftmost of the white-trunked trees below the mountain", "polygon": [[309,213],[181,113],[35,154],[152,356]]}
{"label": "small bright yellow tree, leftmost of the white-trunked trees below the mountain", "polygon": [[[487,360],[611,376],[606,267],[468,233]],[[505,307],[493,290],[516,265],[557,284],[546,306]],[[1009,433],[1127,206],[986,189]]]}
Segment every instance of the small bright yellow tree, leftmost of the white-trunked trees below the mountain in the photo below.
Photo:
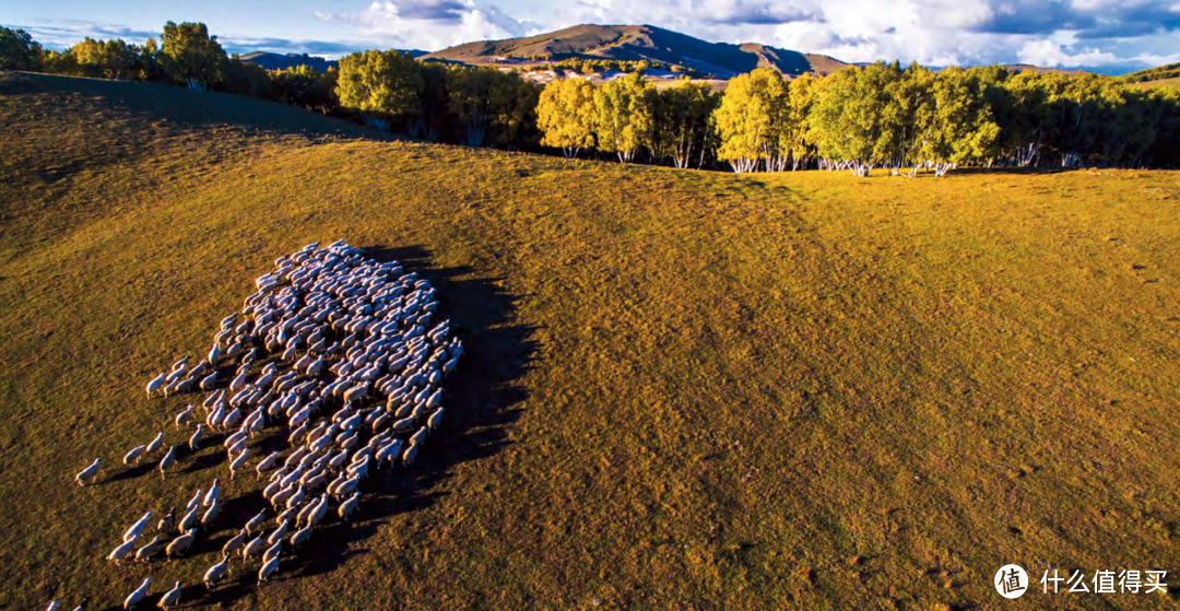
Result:
{"label": "small bright yellow tree, leftmost of the white-trunked trees below the mountain", "polygon": [[579,78],[557,79],[540,92],[537,126],[540,144],[562,150],[575,158],[582,149],[595,145],[595,86]]}

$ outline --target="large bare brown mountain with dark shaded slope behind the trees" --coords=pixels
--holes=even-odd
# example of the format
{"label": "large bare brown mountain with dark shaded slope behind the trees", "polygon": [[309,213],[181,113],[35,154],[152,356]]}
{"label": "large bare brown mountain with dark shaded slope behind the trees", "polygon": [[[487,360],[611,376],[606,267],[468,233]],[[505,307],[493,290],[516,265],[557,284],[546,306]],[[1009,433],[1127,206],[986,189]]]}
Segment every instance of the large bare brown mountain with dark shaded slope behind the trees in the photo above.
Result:
{"label": "large bare brown mountain with dark shaded slope behind the trees", "polygon": [[709,42],[654,26],[598,25],[573,26],[527,38],[467,42],[428,53],[422,59],[519,66],[565,59],[648,61],[657,67],[687,68],[715,79],[728,79],[762,66],[788,75],[828,74],[847,66],[827,55],[758,44]]}

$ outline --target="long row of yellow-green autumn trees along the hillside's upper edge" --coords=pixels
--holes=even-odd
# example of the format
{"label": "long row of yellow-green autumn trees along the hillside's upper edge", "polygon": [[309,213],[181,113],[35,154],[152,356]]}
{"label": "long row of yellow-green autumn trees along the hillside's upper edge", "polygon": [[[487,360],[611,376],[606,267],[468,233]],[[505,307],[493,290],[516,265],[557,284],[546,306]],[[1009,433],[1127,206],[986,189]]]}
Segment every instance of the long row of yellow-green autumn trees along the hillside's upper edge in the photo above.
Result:
{"label": "long row of yellow-green autumn trees along the hillside's upper edge", "polygon": [[169,22],[160,42],[86,39],[58,53],[0,28],[0,68],[172,83],[302,106],[415,138],[558,150],[566,157],[739,172],[874,167],[1180,165],[1180,94],[1096,74],[850,66],[784,78],[758,68],[723,93],[641,72],[540,87],[517,72],[366,51],[320,73],[229,57],[203,24]]}

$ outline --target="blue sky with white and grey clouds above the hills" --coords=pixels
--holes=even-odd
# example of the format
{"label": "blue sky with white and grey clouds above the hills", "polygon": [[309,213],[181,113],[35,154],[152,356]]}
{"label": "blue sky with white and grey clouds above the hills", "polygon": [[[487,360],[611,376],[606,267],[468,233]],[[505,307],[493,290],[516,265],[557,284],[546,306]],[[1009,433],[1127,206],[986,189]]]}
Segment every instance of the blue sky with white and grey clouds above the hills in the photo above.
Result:
{"label": "blue sky with white and grey clouds above the hills", "polygon": [[844,61],[1024,63],[1122,73],[1180,61],[1180,0],[0,0],[51,48],[204,21],[231,52],[435,51],[577,24],[648,24]]}

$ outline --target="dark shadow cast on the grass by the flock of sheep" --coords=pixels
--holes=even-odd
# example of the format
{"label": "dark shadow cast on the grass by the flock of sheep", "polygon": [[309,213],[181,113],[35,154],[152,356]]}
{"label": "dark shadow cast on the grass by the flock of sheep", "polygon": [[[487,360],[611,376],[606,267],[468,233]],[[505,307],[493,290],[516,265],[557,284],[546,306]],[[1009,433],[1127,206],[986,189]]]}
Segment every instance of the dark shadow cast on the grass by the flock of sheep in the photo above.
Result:
{"label": "dark shadow cast on the grass by the flock of sheep", "polygon": [[[530,340],[533,329],[523,326],[511,326],[514,311],[514,297],[504,293],[487,280],[459,280],[472,269],[433,268],[430,265],[430,254],[421,248],[374,248],[366,252],[378,261],[400,261],[408,271],[417,271],[428,280],[438,290],[439,309],[435,320],[450,318],[452,329],[464,342],[464,356],[459,367],[442,382],[446,419],[441,428],[431,435],[422,446],[421,453],[412,467],[385,467],[371,472],[361,490],[360,507],[348,521],[336,514],[337,504],[333,502],[312,538],[294,553],[284,543],[282,561],[278,572],[270,578],[270,584],[261,587],[282,587],[281,583],[332,572],[347,563],[349,558],[368,553],[359,546],[373,537],[388,519],[409,512],[430,507],[445,497],[440,492],[425,492],[434,488],[451,477],[453,468],[463,462],[481,460],[506,447],[507,427],[520,416],[520,409],[514,407],[525,394],[513,386],[527,369],[535,346]],[[240,472],[238,478],[254,480],[253,466],[257,458],[264,456],[270,449],[289,448],[287,428],[283,425],[270,425],[266,438],[251,445],[258,451],[251,461],[249,472]],[[199,471],[225,461],[224,448],[214,446],[214,440],[206,440],[201,452],[182,458],[183,464],[173,467],[181,471]],[[184,449],[188,449],[186,447]],[[254,449],[251,449],[254,452]],[[148,472],[153,466],[148,465]],[[142,467],[133,467],[126,474],[120,473],[107,481],[119,481],[145,473]],[[217,477],[228,477],[218,471]],[[158,477],[158,474],[157,474]],[[201,532],[192,548],[185,556],[198,556],[217,552],[231,537],[240,532],[251,517],[267,510],[267,532],[274,531],[275,512],[262,497],[266,480],[258,481],[256,490],[235,498],[223,498],[217,530],[212,533]],[[185,491],[191,494],[194,491]],[[182,495],[184,495],[182,493]],[[185,497],[186,498],[186,497]],[[179,515],[177,517],[179,519]],[[176,561],[186,561],[179,559]],[[230,563],[231,573],[228,579],[211,590],[203,584],[188,584],[182,591],[184,606],[204,606],[222,604],[227,606],[258,592],[257,573],[261,567],[258,557],[251,558],[243,566],[241,558]],[[202,566],[203,574],[208,566]],[[155,585],[155,584],[153,584]],[[159,584],[151,597],[144,599],[140,606],[155,605],[164,591],[172,584]],[[111,607],[119,609],[119,607]]]}

